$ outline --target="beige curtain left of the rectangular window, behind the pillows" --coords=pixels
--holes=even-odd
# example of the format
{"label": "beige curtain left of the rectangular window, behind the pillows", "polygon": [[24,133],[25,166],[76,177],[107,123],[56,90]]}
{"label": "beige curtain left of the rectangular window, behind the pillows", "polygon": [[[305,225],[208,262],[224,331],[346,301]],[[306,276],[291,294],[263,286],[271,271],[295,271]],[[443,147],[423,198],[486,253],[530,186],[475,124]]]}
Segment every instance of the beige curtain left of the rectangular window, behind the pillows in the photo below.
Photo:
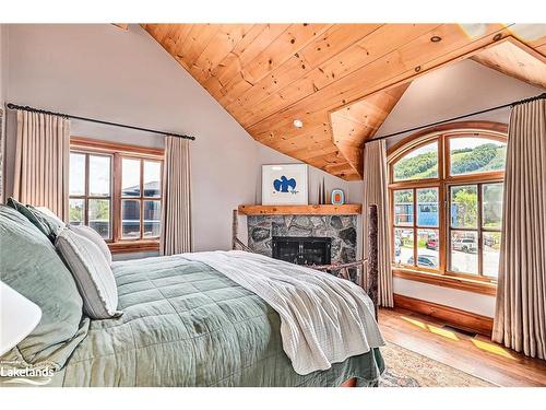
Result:
{"label": "beige curtain left of the rectangular window, behind the pillows", "polygon": [[13,197],[69,219],[70,121],[17,110]]}

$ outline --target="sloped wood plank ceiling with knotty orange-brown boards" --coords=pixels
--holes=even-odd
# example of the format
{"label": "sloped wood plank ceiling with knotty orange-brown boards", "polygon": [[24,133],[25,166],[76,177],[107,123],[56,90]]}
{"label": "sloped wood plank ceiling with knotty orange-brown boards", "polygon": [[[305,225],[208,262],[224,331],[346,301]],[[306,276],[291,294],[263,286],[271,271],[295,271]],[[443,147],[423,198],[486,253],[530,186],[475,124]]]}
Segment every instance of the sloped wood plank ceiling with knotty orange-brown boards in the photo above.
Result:
{"label": "sloped wood plank ceiling with knotty orange-brown boards", "polygon": [[501,24],[142,26],[257,141],[346,180],[361,179],[364,142],[418,75],[476,55],[545,85],[546,25],[518,40],[529,30]]}

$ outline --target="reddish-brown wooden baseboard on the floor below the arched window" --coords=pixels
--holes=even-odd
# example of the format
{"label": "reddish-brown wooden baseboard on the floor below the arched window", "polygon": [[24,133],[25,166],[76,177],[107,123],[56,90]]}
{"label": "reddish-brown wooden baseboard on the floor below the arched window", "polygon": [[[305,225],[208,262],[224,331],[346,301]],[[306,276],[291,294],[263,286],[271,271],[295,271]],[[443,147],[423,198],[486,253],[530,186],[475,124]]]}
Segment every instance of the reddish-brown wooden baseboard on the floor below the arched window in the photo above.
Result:
{"label": "reddish-brown wooden baseboard on the floor below the arched window", "polygon": [[444,320],[464,330],[491,336],[492,319],[487,316],[399,294],[394,294],[394,306]]}

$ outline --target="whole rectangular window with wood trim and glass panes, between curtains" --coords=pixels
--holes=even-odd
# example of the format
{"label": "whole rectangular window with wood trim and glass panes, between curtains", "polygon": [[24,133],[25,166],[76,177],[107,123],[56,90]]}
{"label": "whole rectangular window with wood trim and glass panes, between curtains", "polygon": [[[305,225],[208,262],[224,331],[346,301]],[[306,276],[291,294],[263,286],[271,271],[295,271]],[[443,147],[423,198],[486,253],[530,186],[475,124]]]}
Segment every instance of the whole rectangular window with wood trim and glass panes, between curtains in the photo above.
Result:
{"label": "whole rectangular window with wood trim and glass panes, between curtains", "polygon": [[85,224],[112,251],[158,248],[163,150],[71,138],[70,223]]}

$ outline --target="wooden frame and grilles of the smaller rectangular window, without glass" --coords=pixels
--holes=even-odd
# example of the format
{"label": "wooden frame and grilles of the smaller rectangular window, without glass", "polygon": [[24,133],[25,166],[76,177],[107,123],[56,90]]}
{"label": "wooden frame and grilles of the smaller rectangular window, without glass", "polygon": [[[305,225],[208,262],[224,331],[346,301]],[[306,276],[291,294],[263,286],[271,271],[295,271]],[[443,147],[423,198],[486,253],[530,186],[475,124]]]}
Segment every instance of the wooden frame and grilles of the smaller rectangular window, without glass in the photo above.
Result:
{"label": "wooden frame and grilles of the smaller rectangular window, without glass", "polygon": [[[95,140],[84,137],[71,137],[70,138],[70,151],[87,154],[97,155],[111,155],[111,188],[110,188],[110,239],[107,241],[108,247],[112,254],[132,253],[132,251],[152,251],[159,249],[159,238],[143,238],[143,201],[144,200],[159,200],[163,203],[162,191],[161,197],[143,197],[143,167],[144,161],[155,161],[159,162],[164,166],[164,150],[144,148],[132,144],[123,144],[116,142],[107,142]],[[121,160],[123,157],[132,157],[141,161],[141,196],[140,197],[126,197],[123,199],[135,199],[141,201],[141,234],[139,238],[122,238],[121,237]],[[87,162],[86,162],[87,163]],[[85,175],[85,184],[88,184],[88,175]],[[87,192],[87,188],[86,188]],[[76,198],[75,196],[71,198]],[[86,215],[85,215],[86,218]],[[85,220],[86,221],[86,220]]]}

